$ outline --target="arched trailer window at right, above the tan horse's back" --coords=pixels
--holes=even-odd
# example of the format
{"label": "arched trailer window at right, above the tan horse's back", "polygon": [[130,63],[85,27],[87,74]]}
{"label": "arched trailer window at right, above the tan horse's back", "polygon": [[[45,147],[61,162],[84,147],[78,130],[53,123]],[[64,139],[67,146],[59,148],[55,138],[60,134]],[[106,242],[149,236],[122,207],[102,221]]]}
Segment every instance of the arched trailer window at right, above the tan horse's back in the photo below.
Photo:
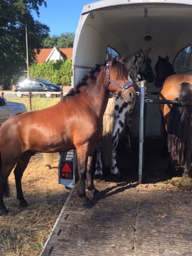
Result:
{"label": "arched trailer window at right, above the tan horse's back", "polygon": [[190,55],[191,55],[191,45],[185,47],[176,55],[173,61],[173,68],[176,72],[189,68]]}

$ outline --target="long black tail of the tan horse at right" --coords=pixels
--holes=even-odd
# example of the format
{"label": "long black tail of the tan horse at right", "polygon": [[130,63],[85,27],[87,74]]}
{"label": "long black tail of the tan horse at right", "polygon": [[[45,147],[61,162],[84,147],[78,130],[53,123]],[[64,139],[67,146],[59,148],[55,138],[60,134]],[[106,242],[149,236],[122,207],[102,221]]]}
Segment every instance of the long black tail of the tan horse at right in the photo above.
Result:
{"label": "long black tail of the tan horse at right", "polygon": [[172,161],[183,165],[187,151],[190,152],[192,133],[192,84],[182,83],[180,96],[181,105],[173,105],[170,112],[169,131],[167,137],[168,150]]}

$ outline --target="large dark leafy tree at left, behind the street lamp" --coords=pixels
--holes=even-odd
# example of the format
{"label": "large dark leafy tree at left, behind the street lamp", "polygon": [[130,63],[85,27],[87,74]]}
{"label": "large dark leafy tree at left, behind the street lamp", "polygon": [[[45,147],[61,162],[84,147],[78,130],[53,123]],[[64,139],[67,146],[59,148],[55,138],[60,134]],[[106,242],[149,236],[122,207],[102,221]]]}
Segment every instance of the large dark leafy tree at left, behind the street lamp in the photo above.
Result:
{"label": "large dark leafy tree at left, behind the street lamp", "polygon": [[0,1],[0,84],[16,80],[26,70],[25,27],[27,27],[29,64],[35,60],[34,49],[42,48],[42,41],[49,33],[49,27],[34,20],[31,11],[39,15],[39,6],[44,0],[1,0]]}

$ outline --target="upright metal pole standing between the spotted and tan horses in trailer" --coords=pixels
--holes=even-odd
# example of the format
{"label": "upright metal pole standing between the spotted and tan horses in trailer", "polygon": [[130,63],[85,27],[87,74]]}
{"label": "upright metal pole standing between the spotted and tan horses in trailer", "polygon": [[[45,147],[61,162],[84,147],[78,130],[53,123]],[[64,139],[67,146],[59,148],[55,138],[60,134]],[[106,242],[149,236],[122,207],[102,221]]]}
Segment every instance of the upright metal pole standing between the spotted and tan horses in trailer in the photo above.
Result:
{"label": "upright metal pole standing between the spotted and tan horses in trailer", "polygon": [[144,143],[144,96],[145,96],[145,84],[146,81],[141,81],[140,87],[140,130],[139,130],[139,184],[142,183],[142,171],[143,171],[143,143]]}

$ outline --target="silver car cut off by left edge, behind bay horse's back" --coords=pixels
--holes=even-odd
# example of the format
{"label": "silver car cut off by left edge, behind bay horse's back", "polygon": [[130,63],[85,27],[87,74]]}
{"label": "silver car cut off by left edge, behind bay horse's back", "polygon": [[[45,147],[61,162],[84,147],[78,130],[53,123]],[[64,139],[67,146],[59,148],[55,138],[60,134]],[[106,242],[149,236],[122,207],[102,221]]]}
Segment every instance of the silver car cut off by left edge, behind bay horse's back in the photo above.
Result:
{"label": "silver car cut off by left edge, behind bay horse's back", "polygon": [[8,102],[0,96],[0,125],[9,117],[27,112],[26,106],[19,102]]}

